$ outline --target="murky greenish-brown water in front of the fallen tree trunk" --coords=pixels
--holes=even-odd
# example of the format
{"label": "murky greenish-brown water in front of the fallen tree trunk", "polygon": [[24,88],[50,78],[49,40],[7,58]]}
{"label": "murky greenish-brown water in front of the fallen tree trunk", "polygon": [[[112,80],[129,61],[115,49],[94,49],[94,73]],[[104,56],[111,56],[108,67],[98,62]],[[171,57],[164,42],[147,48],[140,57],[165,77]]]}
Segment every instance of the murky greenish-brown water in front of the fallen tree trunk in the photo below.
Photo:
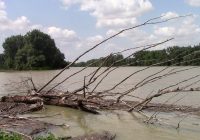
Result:
{"label": "murky greenish-brown water in front of the fallen tree trunk", "polygon": [[114,111],[93,115],[55,106],[47,106],[45,110],[31,114],[31,116],[45,116],[56,113],[60,113],[60,115],[41,120],[53,124],[70,125],[69,128],[59,127],[51,130],[58,136],[78,136],[107,130],[117,134],[117,140],[199,140],[200,137],[199,117],[185,119],[180,124],[181,129],[176,130],[181,114],[174,113],[161,114],[160,125],[145,124],[143,122],[144,116],[138,113]]}

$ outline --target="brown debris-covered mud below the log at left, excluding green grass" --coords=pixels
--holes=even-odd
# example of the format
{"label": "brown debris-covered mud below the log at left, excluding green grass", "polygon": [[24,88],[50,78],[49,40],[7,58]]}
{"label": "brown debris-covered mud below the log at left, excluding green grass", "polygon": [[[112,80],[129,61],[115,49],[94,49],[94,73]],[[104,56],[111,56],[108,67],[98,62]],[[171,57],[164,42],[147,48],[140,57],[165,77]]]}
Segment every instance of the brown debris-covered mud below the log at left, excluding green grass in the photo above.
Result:
{"label": "brown debris-covered mud below the log at left, excluding green grass", "polygon": [[33,135],[49,130],[54,127],[54,125],[17,116],[42,108],[43,105],[39,105],[38,103],[0,102],[0,130],[18,133],[28,140]]}

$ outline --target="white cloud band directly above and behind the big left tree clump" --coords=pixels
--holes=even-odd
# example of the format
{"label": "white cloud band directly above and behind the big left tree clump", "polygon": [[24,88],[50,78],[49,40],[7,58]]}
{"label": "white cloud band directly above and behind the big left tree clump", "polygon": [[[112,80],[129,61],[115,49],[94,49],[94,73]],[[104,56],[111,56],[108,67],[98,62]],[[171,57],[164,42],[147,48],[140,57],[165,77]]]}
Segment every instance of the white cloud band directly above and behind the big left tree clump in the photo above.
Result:
{"label": "white cloud band directly above and behind the big left tree clump", "polygon": [[[44,27],[40,24],[33,24],[25,16],[12,20],[7,15],[5,3],[0,0],[0,43],[3,43],[6,37],[16,34],[25,34],[33,29],[39,29],[49,34],[55,40],[57,47],[65,54],[66,58],[72,58],[67,50],[73,51],[79,40],[75,31],[55,26]],[[0,52],[2,51],[1,47]]]}

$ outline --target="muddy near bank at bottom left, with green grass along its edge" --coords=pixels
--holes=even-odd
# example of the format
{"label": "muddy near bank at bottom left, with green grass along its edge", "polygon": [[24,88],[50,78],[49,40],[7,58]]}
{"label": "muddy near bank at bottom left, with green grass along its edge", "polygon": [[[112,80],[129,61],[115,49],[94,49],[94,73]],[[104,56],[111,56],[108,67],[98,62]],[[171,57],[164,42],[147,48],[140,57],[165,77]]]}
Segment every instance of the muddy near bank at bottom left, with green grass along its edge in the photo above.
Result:
{"label": "muddy near bank at bottom left, with green grass along its edge", "polygon": [[0,132],[1,140],[114,140],[115,138],[115,135],[107,131],[73,138],[71,136],[56,138],[53,134],[42,137],[41,135],[55,127],[68,126],[66,124],[56,125],[37,120],[42,117],[19,116],[20,114],[35,112],[41,109],[35,104],[0,102],[0,130],[3,130]]}

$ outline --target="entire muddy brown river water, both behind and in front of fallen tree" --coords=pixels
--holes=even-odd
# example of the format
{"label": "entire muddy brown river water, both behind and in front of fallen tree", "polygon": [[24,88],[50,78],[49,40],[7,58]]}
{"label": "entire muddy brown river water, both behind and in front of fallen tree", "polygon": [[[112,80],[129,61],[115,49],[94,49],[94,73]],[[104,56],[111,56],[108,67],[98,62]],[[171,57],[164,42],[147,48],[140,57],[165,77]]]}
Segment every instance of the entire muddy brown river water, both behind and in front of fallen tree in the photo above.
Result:
{"label": "entire muddy brown river water, both behind and in front of fallen tree", "polygon": [[[97,91],[111,88],[120,80],[130,75],[131,73],[142,69],[143,67],[123,67],[119,68],[111,75],[109,75],[105,81],[98,87]],[[124,82],[121,86],[115,89],[115,91],[125,91],[131,88],[137,82],[144,79],[146,76],[156,73],[164,67],[154,67],[146,71],[138,73]],[[167,72],[186,69],[189,67],[177,67],[169,68],[160,73],[162,75]],[[52,85],[61,81],[68,75],[80,70],[81,68],[70,68],[63,73]],[[74,89],[83,86],[84,75],[89,74],[96,68],[88,68],[83,73],[74,76],[69,79],[59,89],[65,91],[72,91]],[[0,72],[0,96],[7,94],[24,94],[24,85],[19,85],[19,82],[26,77],[32,77],[37,86],[43,85],[58,71],[21,71],[21,72]],[[177,73],[169,77],[165,77],[154,83],[145,85],[139,88],[134,93],[135,96],[142,98],[148,94],[156,93],[159,89],[162,89],[168,85],[175,84],[181,80],[193,77],[200,74],[200,68],[193,68],[188,71]],[[198,80],[197,79],[194,79]],[[192,81],[190,81],[192,82]],[[184,83],[188,84],[188,83]],[[16,86],[17,85],[17,86]],[[184,85],[180,85],[184,86]],[[200,83],[192,85],[192,87],[199,87]],[[92,88],[92,86],[90,87]],[[161,98],[153,100],[154,102],[165,102],[173,95],[163,96]],[[180,99],[180,100],[179,100]],[[136,100],[129,98],[127,100]],[[167,103],[200,106],[200,93],[179,93],[176,97],[169,100]],[[145,112],[147,116],[150,116],[153,112]],[[188,116],[178,112],[173,113],[160,113],[158,115],[159,123],[156,125],[145,124],[143,120],[145,116],[138,113],[128,113],[123,111],[103,111],[101,115],[92,115],[85,112],[67,109],[62,107],[46,106],[46,109],[27,114],[28,116],[46,116],[53,115],[52,117],[42,118],[41,120],[54,123],[54,124],[66,124],[65,127],[58,127],[52,129],[52,133],[58,136],[79,136],[86,133],[99,132],[103,130],[110,131],[116,134],[117,140],[199,140],[200,139],[200,115]],[[183,121],[181,121],[183,120]],[[180,123],[180,129],[176,129],[178,122]]]}

